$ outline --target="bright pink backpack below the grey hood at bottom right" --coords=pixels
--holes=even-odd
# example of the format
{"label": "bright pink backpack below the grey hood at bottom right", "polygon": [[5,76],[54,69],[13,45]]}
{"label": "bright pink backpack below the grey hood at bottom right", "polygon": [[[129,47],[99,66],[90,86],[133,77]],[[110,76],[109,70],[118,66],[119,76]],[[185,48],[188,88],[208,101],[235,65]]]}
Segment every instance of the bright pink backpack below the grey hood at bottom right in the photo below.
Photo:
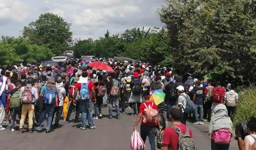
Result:
{"label": "bright pink backpack below the grey hood at bottom right", "polygon": [[212,141],[216,144],[227,145],[230,143],[231,138],[232,134],[226,128],[215,130],[212,133]]}

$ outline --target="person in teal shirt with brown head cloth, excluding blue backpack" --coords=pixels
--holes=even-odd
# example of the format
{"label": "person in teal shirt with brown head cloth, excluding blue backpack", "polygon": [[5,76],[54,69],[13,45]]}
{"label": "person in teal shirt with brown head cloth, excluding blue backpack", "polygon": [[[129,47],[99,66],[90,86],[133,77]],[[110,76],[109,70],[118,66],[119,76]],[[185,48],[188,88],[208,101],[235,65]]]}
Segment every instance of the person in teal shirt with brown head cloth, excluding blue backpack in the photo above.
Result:
{"label": "person in teal shirt with brown head cloth, excluding blue backpack", "polygon": [[[43,94],[48,91],[48,90],[53,90],[55,91],[56,94],[58,94],[58,89],[56,88],[56,82],[54,77],[49,77],[47,80],[46,85],[44,85],[40,91],[40,97],[43,96]],[[55,104],[55,103],[54,103]],[[45,104],[44,106],[44,110],[42,110],[39,114],[39,126],[37,128],[38,132],[41,133],[42,127],[44,125],[44,117],[47,114],[48,116],[48,120],[47,120],[47,124],[45,127],[45,132],[49,133],[51,131],[51,123],[52,123],[52,119],[53,119],[53,111],[54,111],[54,104]]]}

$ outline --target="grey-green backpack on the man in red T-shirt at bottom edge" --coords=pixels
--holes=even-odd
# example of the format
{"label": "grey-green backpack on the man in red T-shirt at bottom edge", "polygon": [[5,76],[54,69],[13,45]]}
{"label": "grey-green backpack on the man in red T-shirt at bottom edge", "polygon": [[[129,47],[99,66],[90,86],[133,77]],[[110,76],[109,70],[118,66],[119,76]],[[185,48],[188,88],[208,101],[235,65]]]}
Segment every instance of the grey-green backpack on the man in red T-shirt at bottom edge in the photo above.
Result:
{"label": "grey-green backpack on the man in red T-shirt at bottom edge", "polygon": [[188,128],[186,129],[186,133],[183,134],[179,127],[175,125],[171,125],[171,127],[179,134],[179,147],[178,150],[197,150],[197,146],[193,139],[189,135]]}

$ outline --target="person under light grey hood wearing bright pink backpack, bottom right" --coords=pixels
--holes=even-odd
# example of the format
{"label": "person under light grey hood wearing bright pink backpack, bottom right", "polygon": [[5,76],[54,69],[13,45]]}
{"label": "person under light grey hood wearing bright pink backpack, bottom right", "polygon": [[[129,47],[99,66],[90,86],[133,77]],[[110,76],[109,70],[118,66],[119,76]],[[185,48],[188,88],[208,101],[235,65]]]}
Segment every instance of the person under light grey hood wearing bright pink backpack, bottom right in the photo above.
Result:
{"label": "person under light grey hood wearing bright pink backpack, bottom right", "polygon": [[[233,127],[232,121],[228,117],[228,110],[225,105],[219,103],[213,107],[212,112],[214,115],[209,125],[209,134],[212,134],[211,148],[212,150],[228,150]],[[225,139],[219,139],[219,133],[222,133],[220,137],[225,137]]]}

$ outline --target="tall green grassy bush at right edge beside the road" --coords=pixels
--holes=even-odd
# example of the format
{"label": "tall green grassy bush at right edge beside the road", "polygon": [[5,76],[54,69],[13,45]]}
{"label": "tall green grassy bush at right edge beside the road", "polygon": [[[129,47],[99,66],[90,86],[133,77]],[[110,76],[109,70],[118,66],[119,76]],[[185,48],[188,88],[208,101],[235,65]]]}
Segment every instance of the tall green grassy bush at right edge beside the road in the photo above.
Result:
{"label": "tall green grassy bush at right edge beside the road", "polygon": [[251,117],[256,117],[256,87],[242,89],[239,92],[239,101],[233,125],[239,121],[246,122]]}

